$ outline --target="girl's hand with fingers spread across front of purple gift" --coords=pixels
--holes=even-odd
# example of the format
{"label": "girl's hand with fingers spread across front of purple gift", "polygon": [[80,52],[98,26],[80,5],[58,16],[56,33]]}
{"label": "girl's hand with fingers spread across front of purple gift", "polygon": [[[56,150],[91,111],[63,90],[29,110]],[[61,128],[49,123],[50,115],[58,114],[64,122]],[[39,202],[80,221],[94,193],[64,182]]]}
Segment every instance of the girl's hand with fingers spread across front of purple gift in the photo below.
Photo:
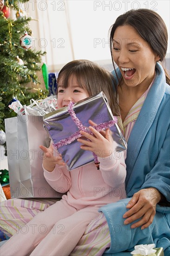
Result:
{"label": "girl's hand with fingers spread across front of purple gift", "polygon": [[99,133],[92,126],[89,126],[89,129],[93,133],[93,135],[90,135],[84,131],[80,131],[81,135],[83,135],[86,139],[90,140],[87,141],[82,138],[79,138],[77,141],[83,143],[83,145],[80,148],[92,151],[97,156],[103,158],[111,155],[113,151],[113,140],[111,137],[110,129],[108,128],[106,129],[106,131],[104,131],[105,136]]}

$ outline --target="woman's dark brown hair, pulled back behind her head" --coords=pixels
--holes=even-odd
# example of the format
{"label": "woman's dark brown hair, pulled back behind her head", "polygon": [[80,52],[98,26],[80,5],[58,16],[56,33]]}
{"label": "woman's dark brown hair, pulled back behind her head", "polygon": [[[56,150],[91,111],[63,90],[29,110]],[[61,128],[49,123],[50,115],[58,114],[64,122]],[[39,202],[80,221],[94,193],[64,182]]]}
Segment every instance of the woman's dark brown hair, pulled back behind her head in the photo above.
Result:
{"label": "woman's dark brown hair, pulled back behind her head", "polygon": [[[168,32],[166,25],[159,14],[147,9],[130,10],[117,18],[109,30],[111,56],[112,40],[115,30],[117,27],[124,25],[130,25],[135,28],[138,34],[150,45],[153,52],[159,55],[160,61],[162,62],[164,60],[168,47]],[[164,71],[166,82],[170,85],[170,76],[165,68]]]}

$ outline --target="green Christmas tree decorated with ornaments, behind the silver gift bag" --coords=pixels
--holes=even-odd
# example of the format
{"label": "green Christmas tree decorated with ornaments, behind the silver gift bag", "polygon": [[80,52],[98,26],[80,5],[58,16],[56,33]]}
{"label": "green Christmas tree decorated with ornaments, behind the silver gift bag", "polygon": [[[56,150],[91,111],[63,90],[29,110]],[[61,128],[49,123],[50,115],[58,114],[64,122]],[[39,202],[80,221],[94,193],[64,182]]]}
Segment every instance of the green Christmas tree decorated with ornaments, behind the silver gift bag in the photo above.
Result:
{"label": "green Christmas tree decorated with ornaments, behind the silver gift bag", "polygon": [[[0,0],[0,129],[3,131],[4,119],[17,115],[8,107],[11,101],[29,105],[30,99],[48,95],[47,90],[39,88],[37,76],[41,56],[46,53],[34,49],[29,28],[32,18],[19,5],[28,1]],[[10,19],[10,11],[15,12],[16,19]],[[30,81],[33,88],[27,87]]]}

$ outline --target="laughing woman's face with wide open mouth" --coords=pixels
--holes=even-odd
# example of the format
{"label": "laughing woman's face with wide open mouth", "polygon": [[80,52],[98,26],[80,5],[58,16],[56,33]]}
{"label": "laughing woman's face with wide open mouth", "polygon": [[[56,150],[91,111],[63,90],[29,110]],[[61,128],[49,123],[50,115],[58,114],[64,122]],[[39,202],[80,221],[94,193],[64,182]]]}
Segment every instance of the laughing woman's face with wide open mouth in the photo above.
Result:
{"label": "laughing woman's face with wide open mouth", "polygon": [[112,56],[126,86],[149,87],[155,74],[156,61],[160,58],[136,29],[129,25],[117,27],[113,36]]}

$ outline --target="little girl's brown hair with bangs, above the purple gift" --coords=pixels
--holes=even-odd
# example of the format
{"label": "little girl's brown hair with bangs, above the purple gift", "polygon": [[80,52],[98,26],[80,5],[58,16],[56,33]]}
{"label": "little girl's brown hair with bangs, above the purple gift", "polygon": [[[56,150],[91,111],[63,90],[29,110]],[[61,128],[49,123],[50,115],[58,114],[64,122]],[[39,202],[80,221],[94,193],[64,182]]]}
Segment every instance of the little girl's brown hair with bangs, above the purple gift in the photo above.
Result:
{"label": "little girl's brown hair with bangs, above the purple gift", "polygon": [[60,70],[57,82],[59,83],[62,79],[63,88],[67,88],[71,75],[76,77],[78,85],[84,88],[89,96],[103,91],[108,99],[112,114],[119,115],[117,88],[109,71],[92,61],[71,61]]}

